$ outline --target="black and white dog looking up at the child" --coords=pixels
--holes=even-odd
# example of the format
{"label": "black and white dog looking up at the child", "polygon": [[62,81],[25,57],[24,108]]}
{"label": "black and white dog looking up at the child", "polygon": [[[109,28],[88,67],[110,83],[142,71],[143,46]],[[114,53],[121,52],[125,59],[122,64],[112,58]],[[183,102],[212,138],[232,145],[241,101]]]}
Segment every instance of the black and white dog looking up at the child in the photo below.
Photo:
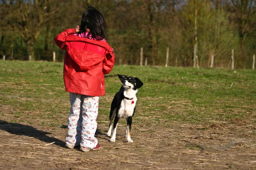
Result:
{"label": "black and white dog looking up at the child", "polygon": [[133,142],[133,140],[131,140],[131,122],[137,102],[136,93],[138,88],[143,86],[143,82],[141,82],[137,77],[127,77],[125,75],[119,74],[117,75],[122,82],[122,87],[120,88],[119,92],[116,93],[111,103],[111,110],[109,115],[110,124],[106,136],[111,136],[112,122],[114,116],[116,115],[113,124],[113,134],[110,142],[116,142],[116,127],[120,117],[124,117],[127,121],[127,142]]}

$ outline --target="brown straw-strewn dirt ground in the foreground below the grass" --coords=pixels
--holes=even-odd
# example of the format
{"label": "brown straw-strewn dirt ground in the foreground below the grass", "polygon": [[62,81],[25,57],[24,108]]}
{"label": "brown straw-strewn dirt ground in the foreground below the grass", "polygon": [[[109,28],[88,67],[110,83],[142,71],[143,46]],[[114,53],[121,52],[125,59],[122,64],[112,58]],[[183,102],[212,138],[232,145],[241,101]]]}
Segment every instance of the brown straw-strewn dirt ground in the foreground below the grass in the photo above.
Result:
{"label": "brown straw-strewn dirt ground in the foreground below the grass", "polygon": [[[125,141],[125,123],[116,142],[108,142],[108,116],[98,116],[96,137],[100,150],[87,153],[64,148],[67,117],[61,127],[9,122],[9,106],[1,106],[0,169],[3,170],[150,170],[150,169],[256,169],[256,125],[250,121],[194,125],[135,115],[131,138]],[[32,113],[31,113],[32,114]],[[142,115],[142,116],[141,116]],[[158,118],[157,118],[158,117]],[[17,118],[17,119],[23,119]]]}

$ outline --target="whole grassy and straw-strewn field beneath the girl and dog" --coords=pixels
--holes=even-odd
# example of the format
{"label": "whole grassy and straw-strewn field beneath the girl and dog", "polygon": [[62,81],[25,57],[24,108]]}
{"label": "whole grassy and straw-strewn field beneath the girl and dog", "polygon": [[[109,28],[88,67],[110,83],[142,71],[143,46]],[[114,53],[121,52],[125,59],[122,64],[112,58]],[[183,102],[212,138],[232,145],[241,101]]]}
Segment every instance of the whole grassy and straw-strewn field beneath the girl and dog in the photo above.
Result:
{"label": "whole grassy and straw-strewn field beneath the girl and dog", "polygon": [[[83,153],[78,148],[64,148],[69,100],[59,65],[35,62],[26,69],[28,63],[1,64],[5,68],[0,71],[2,169],[255,169],[255,73],[241,71],[232,77],[233,73],[227,71],[230,81],[242,82],[233,83],[230,88],[226,77],[197,77],[195,81],[194,76],[215,75],[216,70],[197,75],[191,73],[191,68],[172,68],[176,70],[169,71],[169,75],[176,75],[176,71],[184,74],[159,79],[158,73],[168,68],[145,68],[138,75],[144,79],[145,87],[138,93],[131,130],[133,143],[126,142],[123,119],[115,143],[105,136],[110,102],[119,89],[119,81],[108,77],[108,93],[100,98],[97,119],[96,137],[102,147]],[[15,70],[21,67],[23,72]],[[140,69],[133,66],[127,70],[135,74]],[[121,71],[122,67],[117,67],[113,74]],[[143,75],[150,71],[151,77]],[[227,88],[221,89],[225,83]]]}

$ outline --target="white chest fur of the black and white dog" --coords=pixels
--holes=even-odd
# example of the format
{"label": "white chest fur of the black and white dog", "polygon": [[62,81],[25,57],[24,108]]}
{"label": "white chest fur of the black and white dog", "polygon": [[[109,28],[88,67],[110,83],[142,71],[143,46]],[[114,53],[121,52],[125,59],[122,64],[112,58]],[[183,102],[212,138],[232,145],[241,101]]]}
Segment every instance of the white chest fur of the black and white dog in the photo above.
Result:
{"label": "white chest fur of the black and white dog", "polygon": [[[134,101],[134,103],[132,103],[132,101]],[[123,99],[120,105],[120,109],[118,111],[118,115],[124,118],[132,116],[136,102],[137,102],[136,96],[132,100]]]}

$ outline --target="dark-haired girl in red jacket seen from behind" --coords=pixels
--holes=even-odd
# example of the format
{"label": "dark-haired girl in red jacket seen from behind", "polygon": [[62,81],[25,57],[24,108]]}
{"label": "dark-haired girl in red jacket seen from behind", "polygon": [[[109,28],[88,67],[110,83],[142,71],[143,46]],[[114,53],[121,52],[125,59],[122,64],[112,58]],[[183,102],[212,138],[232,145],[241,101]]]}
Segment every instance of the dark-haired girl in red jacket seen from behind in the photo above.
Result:
{"label": "dark-haired girl in red jacket seen from behind", "polygon": [[102,14],[93,7],[83,13],[81,25],[67,29],[55,37],[55,43],[66,50],[64,84],[70,92],[65,147],[80,145],[87,152],[100,145],[94,137],[98,115],[99,96],[105,95],[104,74],[113,68],[113,48],[104,40],[106,25]]}

